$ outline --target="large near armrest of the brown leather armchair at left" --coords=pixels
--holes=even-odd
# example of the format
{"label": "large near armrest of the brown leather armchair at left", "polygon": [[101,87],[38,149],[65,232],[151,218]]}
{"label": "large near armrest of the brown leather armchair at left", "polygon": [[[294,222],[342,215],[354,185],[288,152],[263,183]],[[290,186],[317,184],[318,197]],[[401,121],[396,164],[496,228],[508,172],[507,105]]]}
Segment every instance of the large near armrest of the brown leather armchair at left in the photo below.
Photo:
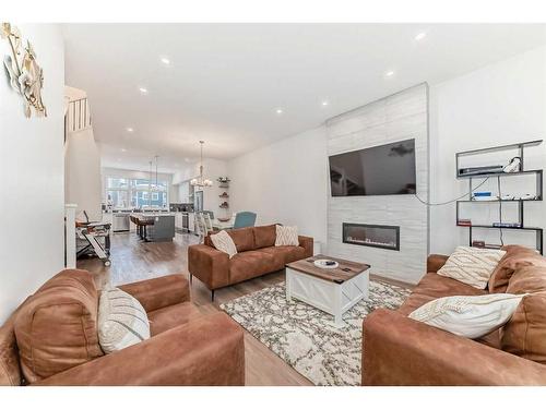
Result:
{"label": "large near armrest of the brown leather armchair at left", "polygon": [[218,312],[33,385],[245,385],[244,333]]}

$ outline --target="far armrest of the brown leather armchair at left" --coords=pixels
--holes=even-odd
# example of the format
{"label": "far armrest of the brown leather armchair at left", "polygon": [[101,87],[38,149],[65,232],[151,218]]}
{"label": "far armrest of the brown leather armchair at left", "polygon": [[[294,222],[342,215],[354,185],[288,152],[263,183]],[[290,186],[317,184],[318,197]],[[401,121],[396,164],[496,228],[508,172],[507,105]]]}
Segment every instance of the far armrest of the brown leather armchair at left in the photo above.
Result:
{"label": "far armrest of the brown leather armchair at left", "polygon": [[119,288],[139,300],[146,312],[190,301],[188,280],[181,274],[126,284]]}

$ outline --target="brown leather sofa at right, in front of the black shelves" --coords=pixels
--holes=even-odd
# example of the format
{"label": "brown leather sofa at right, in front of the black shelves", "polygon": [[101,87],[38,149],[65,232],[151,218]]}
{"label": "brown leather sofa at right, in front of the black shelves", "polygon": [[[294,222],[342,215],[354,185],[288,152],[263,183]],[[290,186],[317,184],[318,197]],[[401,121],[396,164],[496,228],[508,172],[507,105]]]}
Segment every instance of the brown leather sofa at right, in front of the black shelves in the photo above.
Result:
{"label": "brown leather sofa at right, in front of the black shelves", "polygon": [[[448,256],[430,255],[428,273],[397,311],[378,309],[364,322],[363,385],[546,385],[546,258],[503,248],[479,290],[436,272]],[[502,328],[473,340],[407,315],[441,297],[531,293]]]}

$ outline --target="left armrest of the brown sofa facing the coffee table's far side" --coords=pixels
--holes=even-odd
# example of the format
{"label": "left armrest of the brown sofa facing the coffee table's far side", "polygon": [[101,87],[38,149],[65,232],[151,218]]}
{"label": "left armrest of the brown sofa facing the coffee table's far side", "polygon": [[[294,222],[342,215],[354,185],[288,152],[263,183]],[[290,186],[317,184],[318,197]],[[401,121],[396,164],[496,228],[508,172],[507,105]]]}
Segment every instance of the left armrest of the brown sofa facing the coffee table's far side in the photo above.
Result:
{"label": "left armrest of the brown sofa facing the coffee table's far side", "polygon": [[188,248],[188,269],[210,290],[229,285],[229,256],[206,244]]}

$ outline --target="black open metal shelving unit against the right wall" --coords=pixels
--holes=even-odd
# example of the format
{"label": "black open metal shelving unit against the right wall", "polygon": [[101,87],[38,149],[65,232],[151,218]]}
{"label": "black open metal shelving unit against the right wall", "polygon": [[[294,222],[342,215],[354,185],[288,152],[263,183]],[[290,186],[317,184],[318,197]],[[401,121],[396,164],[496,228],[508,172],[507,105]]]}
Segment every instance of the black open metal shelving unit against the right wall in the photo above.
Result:
{"label": "black open metal shelving unit against the right wall", "polygon": [[[473,239],[474,229],[497,229],[499,230],[500,245],[499,244],[485,244],[487,249],[495,249],[501,245],[505,245],[505,240],[502,236],[503,229],[510,229],[513,231],[517,230],[526,230],[534,231],[536,234],[536,250],[541,254],[543,254],[543,231],[544,227],[527,227],[524,224],[524,204],[529,201],[542,201],[543,200],[543,169],[533,169],[525,170],[524,168],[524,148],[531,146],[537,146],[543,143],[543,140],[530,141],[530,142],[520,142],[510,145],[502,146],[492,146],[483,149],[475,151],[466,151],[459,152],[455,154],[455,175],[458,179],[467,179],[468,180],[468,196],[467,200],[458,200],[456,201],[456,214],[455,214],[455,224],[456,226],[468,228],[468,243],[470,245],[474,245],[476,240]],[[519,154],[515,157],[512,157],[508,165],[505,166],[494,166],[494,167],[474,167],[474,168],[461,168],[459,166],[460,159],[462,157],[475,156],[482,154],[490,154],[494,152],[505,152],[505,151],[513,151],[518,149]],[[533,176],[536,181],[536,192],[535,194],[524,194],[517,199],[512,194],[506,194],[501,192],[501,180],[505,177],[519,177],[519,176]],[[494,179],[495,178],[495,179]],[[483,179],[483,181],[473,188],[474,179]],[[480,185],[483,185],[487,180],[494,179],[497,181],[498,187],[498,195],[492,195],[491,192],[475,192]],[[502,204],[506,202],[511,202],[512,204],[517,204],[518,206],[518,221],[506,222],[502,220]],[[470,219],[461,219],[460,218],[460,206],[464,203],[489,205],[498,204],[499,206],[499,220],[494,221],[491,224],[472,224]],[[485,203],[485,204],[484,204]]]}

